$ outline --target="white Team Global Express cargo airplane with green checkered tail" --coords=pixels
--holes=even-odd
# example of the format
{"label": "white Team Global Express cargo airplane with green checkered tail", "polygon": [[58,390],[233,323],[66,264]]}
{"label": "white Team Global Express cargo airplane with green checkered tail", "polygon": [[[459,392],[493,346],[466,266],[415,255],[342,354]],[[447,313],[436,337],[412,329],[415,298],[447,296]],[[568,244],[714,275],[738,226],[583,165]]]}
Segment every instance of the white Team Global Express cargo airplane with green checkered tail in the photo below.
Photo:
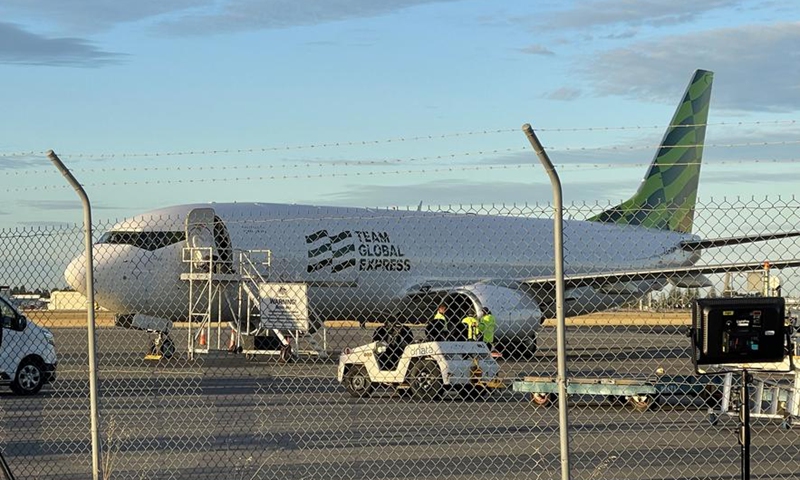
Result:
{"label": "white Team Global Express cargo airplane with green checkered tail", "polygon": [[[709,286],[704,276],[760,263],[697,266],[708,248],[786,238],[800,232],[702,239],[692,234],[713,72],[691,78],[636,193],[588,220],[564,221],[565,315],[607,310],[672,283]],[[196,218],[195,218],[196,217]],[[204,219],[204,220],[198,220]],[[203,228],[196,228],[197,225]],[[496,345],[529,356],[537,331],[555,317],[553,221],[499,215],[271,203],[177,205],[128,218],[93,246],[95,299],[118,312],[185,321],[191,270],[184,248],[209,246],[226,272],[238,251],[269,249],[269,282],[307,286],[310,331],[329,319],[424,321],[445,304],[458,321],[482,307],[497,319]],[[85,258],[67,267],[86,291]],[[773,268],[800,261],[773,261]],[[232,298],[217,316],[233,328]],[[242,294],[238,294],[242,295]],[[138,326],[141,328],[141,325]]]}

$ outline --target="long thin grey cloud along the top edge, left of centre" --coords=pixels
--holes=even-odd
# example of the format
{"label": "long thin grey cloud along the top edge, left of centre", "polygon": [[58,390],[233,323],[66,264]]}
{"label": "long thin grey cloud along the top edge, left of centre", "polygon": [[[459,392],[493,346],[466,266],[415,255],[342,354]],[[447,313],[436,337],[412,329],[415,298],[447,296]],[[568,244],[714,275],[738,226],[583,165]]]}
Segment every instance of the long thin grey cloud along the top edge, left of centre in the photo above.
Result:
{"label": "long thin grey cloud along the top edge, left of centre", "polygon": [[230,0],[214,9],[173,15],[157,28],[179,35],[280,29],[377,17],[419,5],[454,1],[459,0]]}

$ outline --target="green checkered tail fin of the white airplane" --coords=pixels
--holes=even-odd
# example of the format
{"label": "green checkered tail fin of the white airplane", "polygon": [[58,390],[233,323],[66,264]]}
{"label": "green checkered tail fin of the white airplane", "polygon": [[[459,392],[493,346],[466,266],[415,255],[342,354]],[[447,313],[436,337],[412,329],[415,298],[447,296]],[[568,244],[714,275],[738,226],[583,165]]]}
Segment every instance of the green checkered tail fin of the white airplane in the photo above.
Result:
{"label": "green checkered tail fin of the white airplane", "polygon": [[636,194],[590,221],[691,232],[713,79],[695,71]]}

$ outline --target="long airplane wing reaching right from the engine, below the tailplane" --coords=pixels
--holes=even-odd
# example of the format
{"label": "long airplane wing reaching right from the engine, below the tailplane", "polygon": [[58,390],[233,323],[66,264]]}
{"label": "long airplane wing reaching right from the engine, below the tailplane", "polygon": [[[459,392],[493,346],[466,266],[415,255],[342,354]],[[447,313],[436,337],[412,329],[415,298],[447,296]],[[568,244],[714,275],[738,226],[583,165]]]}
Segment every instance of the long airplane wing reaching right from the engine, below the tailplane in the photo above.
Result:
{"label": "long airplane wing reaching right from the engine, below the tailplane", "polygon": [[[769,262],[770,268],[780,270],[782,268],[800,267],[800,259],[792,260],[779,260],[776,262]],[[578,275],[564,275],[564,287],[576,288],[586,286],[603,286],[620,282],[632,282],[640,280],[653,280],[657,278],[686,278],[687,276],[700,276],[709,275],[713,273],[727,273],[727,272],[747,272],[753,270],[761,270],[764,268],[763,262],[746,262],[746,263],[721,263],[716,265],[693,265],[689,267],[673,267],[673,268],[654,268],[647,270],[631,270],[631,271],[616,271],[616,272],[596,272],[584,273]],[[551,277],[537,277],[523,280],[522,283],[528,285],[554,285],[556,282],[555,276]]]}

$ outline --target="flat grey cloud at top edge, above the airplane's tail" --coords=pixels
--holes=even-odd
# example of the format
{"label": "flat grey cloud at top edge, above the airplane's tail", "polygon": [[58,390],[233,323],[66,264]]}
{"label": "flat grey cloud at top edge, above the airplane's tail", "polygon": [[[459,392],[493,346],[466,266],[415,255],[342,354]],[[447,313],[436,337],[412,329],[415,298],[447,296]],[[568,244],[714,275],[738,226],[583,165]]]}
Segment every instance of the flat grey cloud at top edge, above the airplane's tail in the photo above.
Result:
{"label": "flat grey cloud at top edge, above the airplane's tail", "polygon": [[[739,5],[741,0],[600,0],[573,2],[574,7],[542,15],[540,26],[548,29],[587,29],[613,25],[676,25],[717,9]],[[631,31],[626,32],[626,34]]]}

